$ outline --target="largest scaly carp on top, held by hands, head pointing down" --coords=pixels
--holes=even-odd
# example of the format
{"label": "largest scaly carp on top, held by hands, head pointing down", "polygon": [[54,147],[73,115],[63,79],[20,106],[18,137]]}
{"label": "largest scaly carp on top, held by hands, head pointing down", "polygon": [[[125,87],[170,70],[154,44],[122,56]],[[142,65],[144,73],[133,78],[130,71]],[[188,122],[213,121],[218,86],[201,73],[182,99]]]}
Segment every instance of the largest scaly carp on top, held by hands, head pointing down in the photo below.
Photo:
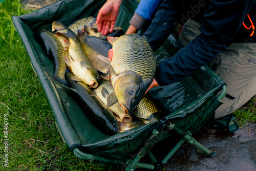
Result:
{"label": "largest scaly carp on top, held by hands, head pointing down", "polygon": [[147,39],[137,34],[108,37],[113,57],[98,56],[109,63],[111,82],[124,113],[131,113],[155,76],[157,61]]}

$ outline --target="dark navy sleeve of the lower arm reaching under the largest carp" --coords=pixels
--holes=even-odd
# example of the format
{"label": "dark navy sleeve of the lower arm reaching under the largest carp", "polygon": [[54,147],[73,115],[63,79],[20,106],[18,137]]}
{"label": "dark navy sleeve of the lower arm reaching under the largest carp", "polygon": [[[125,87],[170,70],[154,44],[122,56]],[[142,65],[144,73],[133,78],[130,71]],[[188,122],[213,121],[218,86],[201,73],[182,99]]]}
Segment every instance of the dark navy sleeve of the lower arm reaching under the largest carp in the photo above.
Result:
{"label": "dark navy sleeve of the lower arm reaching under the largest carp", "polygon": [[[226,51],[252,4],[253,1],[241,0],[210,1],[203,15],[201,34],[173,57],[160,63],[155,75],[158,84],[165,86],[173,83],[193,73],[219,53]],[[154,34],[157,33],[154,32]]]}

